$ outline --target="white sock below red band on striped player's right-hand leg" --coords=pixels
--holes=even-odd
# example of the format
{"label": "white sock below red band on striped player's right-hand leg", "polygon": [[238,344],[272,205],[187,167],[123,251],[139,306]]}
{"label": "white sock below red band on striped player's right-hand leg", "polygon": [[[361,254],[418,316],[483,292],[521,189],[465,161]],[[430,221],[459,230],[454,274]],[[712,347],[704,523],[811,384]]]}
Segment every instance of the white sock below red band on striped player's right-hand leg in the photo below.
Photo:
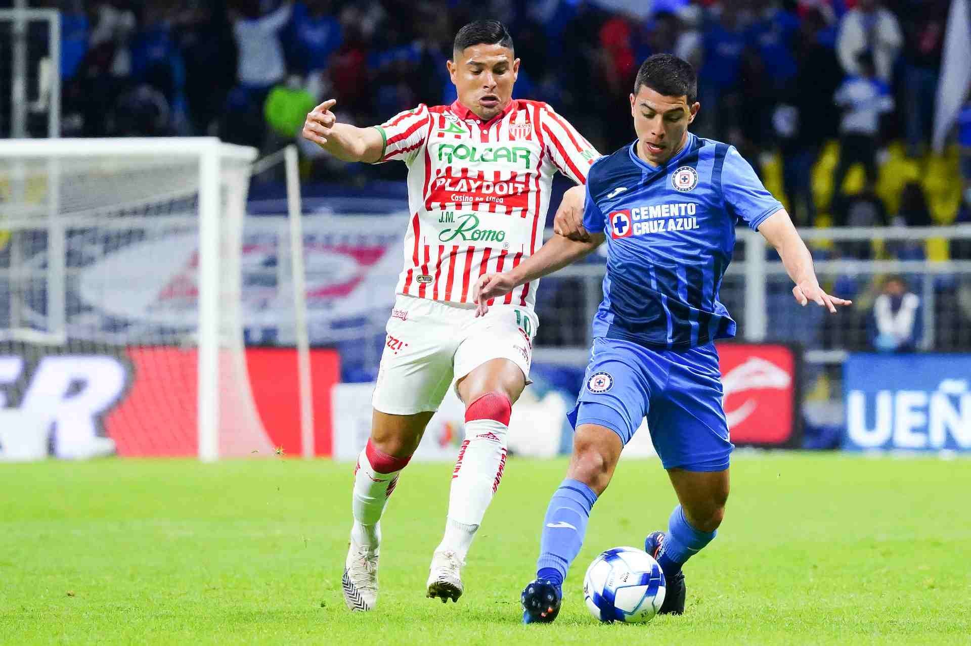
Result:
{"label": "white sock below red band on striped player's right-hand leg", "polygon": [[437,551],[452,550],[465,558],[485,509],[499,488],[506,467],[508,435],[509,427],[495,420],[476,419],[465,424],[465,441],[452,471],[445,537]]}

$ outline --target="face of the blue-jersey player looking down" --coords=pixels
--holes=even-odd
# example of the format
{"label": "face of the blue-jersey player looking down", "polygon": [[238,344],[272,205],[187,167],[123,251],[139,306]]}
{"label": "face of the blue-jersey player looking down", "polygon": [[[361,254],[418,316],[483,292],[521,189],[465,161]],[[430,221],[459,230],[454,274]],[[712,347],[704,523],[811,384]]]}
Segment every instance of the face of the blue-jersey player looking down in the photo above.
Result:
{"label": "face of the blue-jersey player looking down", "polygon": [[686,96],[665,96],[641,85],[636,95],[630,95],[641,159],[652,166],[671,159],[685,145],[687,126],[700,107],[698,102],[687,105]]}

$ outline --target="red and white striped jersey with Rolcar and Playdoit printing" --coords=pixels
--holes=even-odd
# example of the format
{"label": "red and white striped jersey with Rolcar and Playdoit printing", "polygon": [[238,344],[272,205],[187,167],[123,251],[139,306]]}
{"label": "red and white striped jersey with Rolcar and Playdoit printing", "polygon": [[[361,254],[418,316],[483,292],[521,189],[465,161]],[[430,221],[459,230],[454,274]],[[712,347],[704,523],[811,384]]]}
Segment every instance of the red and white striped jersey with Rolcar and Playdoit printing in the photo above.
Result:
{"label": "red and white striped jersey with Rolcar and Playdoit printing", "polygon": [[[408,165],[405,266],[397,293],[471,303],[480,275],[508,271],[543,243],[552,176],[578,183],[599,153],[545,103],[514,99],[484,122],[457,101],[380,126],[381,161]],[[536,284],[502,302],[533,307]],[[491,305],[491,304],[490,304]]]}

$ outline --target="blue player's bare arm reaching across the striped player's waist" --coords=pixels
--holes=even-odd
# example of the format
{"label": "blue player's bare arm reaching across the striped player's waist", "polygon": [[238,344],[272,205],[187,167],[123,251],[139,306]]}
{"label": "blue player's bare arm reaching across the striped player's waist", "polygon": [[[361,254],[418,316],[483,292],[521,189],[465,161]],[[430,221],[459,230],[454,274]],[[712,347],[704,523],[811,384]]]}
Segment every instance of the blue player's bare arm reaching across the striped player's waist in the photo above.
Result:
{"label": "blue player's bare arm reaching across the striped player's waist", "polygon": [[489,299],[505,296],[524,282],[542,278],[586,256],[604,242],[604,235],[588,234],[586,242],[574,241],[554,235],[540,250],[523,260],[515,269],[502,274],[480,276],[472,288],[472,302],[479,307],[476,316],[488,311]]}

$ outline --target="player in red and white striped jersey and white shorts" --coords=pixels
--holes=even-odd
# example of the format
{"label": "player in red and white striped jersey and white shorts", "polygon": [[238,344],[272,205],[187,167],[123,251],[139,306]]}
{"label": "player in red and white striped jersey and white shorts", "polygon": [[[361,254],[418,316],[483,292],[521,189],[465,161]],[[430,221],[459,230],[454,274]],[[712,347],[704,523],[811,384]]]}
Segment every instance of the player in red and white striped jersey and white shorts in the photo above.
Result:
{"label": "player in red and white striped jersey and white shorts", "polygon": [[[351,548],[343,577],[352,610],[378,595],[380,519],[398,475],[452,381],[465,404],[465,439],[452,471],[445,536],[427,596],[457,600],[460,567],[506,462],[512,405],[529,383],[537,281],[523,282],[476,316],[480,276],[518,267],[542,243],[552,176],[577,184],[599,157],[566,119],[537,101],[513,99],[519,59],[502,23],[473,22],[455,36],[451,106],[400,113],[380,126],[338,123],[325,101],[303,136],[348,161],[408,166],[405,266],[387,322],[367,446],[354,470]],[[567,190],[560,210],[583,209]]]}

